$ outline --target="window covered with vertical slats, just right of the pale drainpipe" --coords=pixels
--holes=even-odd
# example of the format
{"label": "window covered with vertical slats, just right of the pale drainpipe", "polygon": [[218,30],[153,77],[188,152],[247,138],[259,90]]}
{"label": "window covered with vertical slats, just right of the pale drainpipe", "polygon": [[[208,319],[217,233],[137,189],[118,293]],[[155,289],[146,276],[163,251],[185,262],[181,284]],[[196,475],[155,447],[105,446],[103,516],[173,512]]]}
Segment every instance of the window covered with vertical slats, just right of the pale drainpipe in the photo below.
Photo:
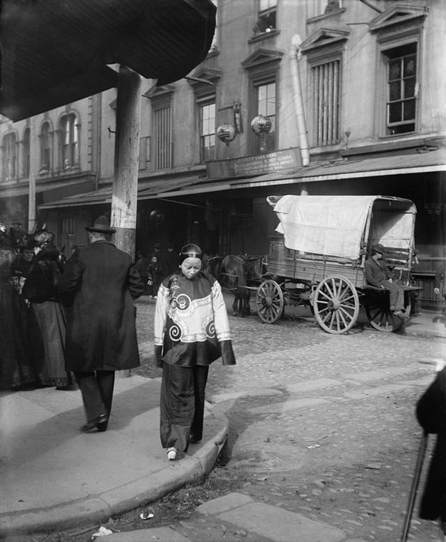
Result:
{"label": "window covered with vertical slats, just right of the pale drainpipe", "polygon": [[312,66],[314,145],[339,141],[340,61]]}

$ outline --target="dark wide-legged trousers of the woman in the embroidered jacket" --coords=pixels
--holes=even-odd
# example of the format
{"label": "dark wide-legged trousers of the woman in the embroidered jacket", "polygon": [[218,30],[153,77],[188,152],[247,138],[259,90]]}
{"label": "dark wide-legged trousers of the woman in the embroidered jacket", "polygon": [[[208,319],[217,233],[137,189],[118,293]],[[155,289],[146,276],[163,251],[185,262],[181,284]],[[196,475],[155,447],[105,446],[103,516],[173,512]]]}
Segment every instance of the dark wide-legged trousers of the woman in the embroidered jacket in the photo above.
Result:
{"label": "dark wide-legged trousers of the woman in the embroidered jacket", "polygon": [[208,365],[180,367],[163,364],[160,396],[162,447],[186,452],[190,439],[201,440],[208,371]]}

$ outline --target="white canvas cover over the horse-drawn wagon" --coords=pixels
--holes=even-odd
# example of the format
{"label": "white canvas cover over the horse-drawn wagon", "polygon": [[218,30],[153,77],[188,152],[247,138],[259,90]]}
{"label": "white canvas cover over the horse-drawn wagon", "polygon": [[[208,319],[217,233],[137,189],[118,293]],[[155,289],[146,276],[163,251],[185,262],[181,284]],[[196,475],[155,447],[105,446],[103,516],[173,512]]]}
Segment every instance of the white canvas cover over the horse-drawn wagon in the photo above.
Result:
{"label": "white canvas cover over the horse-drawn wagon", "polygon": [[[289,249],[355,259],[367,243],[364,238],[374,203],[376,219],[369,241],[385,246],[410,247],[416,208],[408,199],[393,196],[268,196],[280,220]],[[370,218],[369,218],[370,217]]]}

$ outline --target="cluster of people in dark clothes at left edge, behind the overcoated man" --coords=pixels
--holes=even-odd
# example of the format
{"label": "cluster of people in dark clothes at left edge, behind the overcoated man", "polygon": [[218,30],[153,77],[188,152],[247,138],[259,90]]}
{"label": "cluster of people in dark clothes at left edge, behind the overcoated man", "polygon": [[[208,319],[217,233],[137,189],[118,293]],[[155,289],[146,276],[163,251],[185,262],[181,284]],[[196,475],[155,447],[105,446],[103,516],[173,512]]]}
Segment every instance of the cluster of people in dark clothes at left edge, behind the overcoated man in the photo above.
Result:
{"label": "cluster of people in dark clothes at left edge, behind the overcoated man", "polygon": [[70,389],[65,311],[56,293],[61,252],[49,231],[28,235],[0,223],[0,388]]}

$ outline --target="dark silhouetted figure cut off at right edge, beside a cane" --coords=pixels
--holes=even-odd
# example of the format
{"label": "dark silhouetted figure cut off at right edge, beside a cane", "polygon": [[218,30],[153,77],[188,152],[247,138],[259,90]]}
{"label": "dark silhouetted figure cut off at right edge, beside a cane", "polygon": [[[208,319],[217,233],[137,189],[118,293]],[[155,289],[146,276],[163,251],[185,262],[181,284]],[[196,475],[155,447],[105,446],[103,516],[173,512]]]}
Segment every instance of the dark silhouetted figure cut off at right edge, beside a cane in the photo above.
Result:
{"label": "dark silhouetted figure cut off at right edge, beside a cane", "polygon": [[417,419],[425,433],[437,435],[420,503],[420,518],[446,521],[446,369],[417,402]]}

